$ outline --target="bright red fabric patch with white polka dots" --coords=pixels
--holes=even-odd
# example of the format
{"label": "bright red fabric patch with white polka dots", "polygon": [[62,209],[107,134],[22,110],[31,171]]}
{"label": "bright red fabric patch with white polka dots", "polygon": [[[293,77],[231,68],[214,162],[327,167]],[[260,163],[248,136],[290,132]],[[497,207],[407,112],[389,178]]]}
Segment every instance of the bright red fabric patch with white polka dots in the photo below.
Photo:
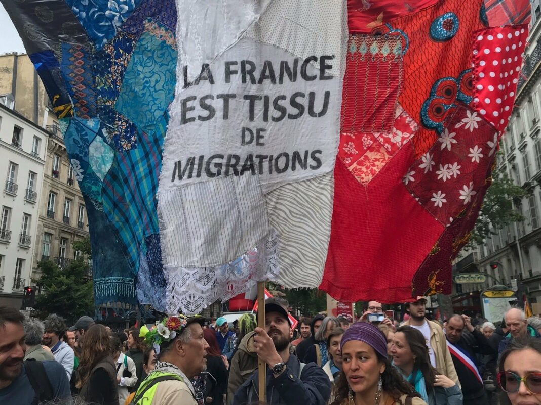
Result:
{"label": "bright red fabric patch with white polka dots", "polygon": [[513,109],[528,28],[503,26],[473,35],[473,105],[501,132]]}

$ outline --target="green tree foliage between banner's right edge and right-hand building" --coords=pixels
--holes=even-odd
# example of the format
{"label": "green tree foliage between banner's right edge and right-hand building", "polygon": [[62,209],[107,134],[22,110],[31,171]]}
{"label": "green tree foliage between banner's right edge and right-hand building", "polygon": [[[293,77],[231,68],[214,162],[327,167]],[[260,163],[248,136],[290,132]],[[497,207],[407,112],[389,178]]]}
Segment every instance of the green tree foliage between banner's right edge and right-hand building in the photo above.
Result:
{"label": "green tree foliage between banner's right edge and right-hand building", "polygon": [[524,188],[514,184],[505,172],[494,171],[492,185],[486,192],[479,217],[465,249],[471,250],[477,245],[482,245],[487,237],[496,234],[505,225],[524,220],[523,215],[514,209],[513,200],[520,201],[526,195]]}

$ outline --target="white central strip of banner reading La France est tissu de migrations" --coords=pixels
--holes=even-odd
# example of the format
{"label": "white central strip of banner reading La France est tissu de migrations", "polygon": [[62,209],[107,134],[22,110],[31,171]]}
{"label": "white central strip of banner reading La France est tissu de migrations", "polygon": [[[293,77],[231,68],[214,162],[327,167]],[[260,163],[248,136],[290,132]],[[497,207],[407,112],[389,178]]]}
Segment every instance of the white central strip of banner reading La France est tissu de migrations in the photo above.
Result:
{"label": "white central strip of banner reading La France est tissu de migrations", "polygon": [[[177,67],[158,191],[171,313],[179,306],[184,313],[200,312],[217,299],[232,298],[279,274],[286,287],[300,287],[299,279],[302,286],[317,287],[324,260],[305,265],[306,272],[295,262],[316,253],[324,258],[326,252],[315,249],[326,249],[330,234],[342,56],[347,46],[346,1],[273,0],[223,51],[214,44],[207,48],[222,30],[214,30],[206,42],[195,46],[194,38],[187,38],[189,30],[180,28],[207,24],[197,22],[206,18],[204,10],[183,14],[179,9],[179,49],[192,49],[203,59],[179,52],[179,64],[182,58],[190,64]],[[277,29],[275,24],[281,21],[285,23]],[[229,39],[224,43],[235,37],[225,35]],[[322,176],[328,180],[306,182]],[[303,186],[295,187],[299,182]],[[273,194],[272,205],[281,199],[287,203],[279,212],[269,211],[268,196],[285,185],[288,188]],[[309,195],[318,197],[318,204],[307,204]],[[280,225],[290,219],[298,222],[298,203],[318,213],[306,215],[302,227]],[[318,244],[310,244],[314,227],[319,227]],[[282,240],[299,243],[287,246],[283,266]],[[235,263],[241,266],[236,268]]]}

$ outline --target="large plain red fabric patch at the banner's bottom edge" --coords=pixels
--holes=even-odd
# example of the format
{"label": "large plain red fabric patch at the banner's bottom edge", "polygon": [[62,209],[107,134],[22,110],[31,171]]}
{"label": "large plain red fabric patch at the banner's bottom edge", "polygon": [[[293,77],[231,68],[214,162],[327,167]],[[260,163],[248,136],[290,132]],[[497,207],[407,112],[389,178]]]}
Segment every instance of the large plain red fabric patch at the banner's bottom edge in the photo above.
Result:
{"label": "large plain red fabric patch at the banner's bottom edge", "polygon": [[444,231],[402,183],[413,161],[407,143],[363,187],[337,159],[331,241],[320,285],[333,298],[377,297],[387,303],[411,298],[413,275]]}

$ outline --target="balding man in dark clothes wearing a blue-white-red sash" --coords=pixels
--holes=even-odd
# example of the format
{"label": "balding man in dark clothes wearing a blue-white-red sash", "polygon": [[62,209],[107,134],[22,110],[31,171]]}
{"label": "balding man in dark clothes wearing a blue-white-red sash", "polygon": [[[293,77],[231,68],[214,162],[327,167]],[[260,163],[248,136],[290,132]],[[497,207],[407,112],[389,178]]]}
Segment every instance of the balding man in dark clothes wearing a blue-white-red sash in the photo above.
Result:
{"label": "balding man in dark clothes wearing a blue-white-red sash", "polygon": [[[469,333],[464,333],[466,329]],[[483,378],[479,373],[477,354],[494,354],[489,340],[475,329],[469,316],[452,315],[445,327],[447,347],[462,387],[464,405],[488,405]]]}

